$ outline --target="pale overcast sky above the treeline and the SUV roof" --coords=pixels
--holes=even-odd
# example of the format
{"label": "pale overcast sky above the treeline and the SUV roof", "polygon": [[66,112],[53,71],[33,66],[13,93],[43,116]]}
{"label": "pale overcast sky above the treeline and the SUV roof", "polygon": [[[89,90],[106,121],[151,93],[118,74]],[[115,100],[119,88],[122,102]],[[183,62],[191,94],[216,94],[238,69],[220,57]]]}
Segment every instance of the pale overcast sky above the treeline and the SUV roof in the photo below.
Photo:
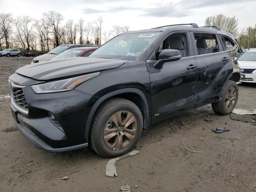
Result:
{"label": "pale overcast sky above the treeline and the SUV roof", "polygon": [[[157,2],[157,3],[156,3]],[[256,24],[256,0],[0,0],[0,12],[40,19],[42,12],[60,12],[65,20],[83,18],[86,22],[102,16],[102,30],[112,25],[128,25],[130,30],[168,24],[195,22],[216,14],[236,16],[239,27]]]}

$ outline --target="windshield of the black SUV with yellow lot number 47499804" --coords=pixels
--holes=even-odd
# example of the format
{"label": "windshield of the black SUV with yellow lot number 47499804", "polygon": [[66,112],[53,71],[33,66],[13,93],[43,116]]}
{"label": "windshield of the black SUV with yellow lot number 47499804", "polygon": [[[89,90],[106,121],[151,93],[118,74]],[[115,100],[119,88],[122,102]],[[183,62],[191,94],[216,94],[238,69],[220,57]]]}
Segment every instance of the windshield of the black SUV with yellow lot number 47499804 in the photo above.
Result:
{"label": "windshield of the black SUV with yellow lot number 47499804", "polygon": [[99,47],[89,57],[136,60],[158,35],[159,32],[120,35]]}

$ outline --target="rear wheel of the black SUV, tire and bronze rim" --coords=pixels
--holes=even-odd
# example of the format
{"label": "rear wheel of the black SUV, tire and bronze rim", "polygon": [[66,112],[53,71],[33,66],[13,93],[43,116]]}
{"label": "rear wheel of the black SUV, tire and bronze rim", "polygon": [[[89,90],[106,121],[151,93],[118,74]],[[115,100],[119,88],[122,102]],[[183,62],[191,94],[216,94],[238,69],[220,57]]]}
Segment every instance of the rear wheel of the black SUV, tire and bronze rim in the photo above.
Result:
{"label": "rear wheel of the black SUV, tire and bronze rim", "polygon": [[212,110],[216,114],[228,115],[236,106],[238,100],[238,86],[236,82],[228,80],[220,102],[212,103]]}

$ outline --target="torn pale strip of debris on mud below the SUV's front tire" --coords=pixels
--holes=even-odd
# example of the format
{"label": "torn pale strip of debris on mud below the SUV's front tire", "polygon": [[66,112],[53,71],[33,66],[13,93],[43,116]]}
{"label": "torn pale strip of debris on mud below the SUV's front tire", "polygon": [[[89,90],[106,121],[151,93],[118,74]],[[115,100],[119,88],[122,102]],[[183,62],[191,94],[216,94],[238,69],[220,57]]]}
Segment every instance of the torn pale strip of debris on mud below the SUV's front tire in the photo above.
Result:
{"label": "torn pale strip of debris on mud below the SUV's front tire", "polygon": [[106,171],[105,171],[105,174],[106,176],[109,176],[109,177],[114,177],[116,176],[117,177],[117,172],[116,172],[116,166],[115,166],[115,163],[126,158],[126,157],[131,157],[131,156],[134,156],[136,154],[138,154],[139,151],[137,150],[134,150],[134,151],[131,151],[130,153],[128,154],[124,154],[118,158],[114,158],[114,159],[110,159],[108,161],[108,163],[106,164]]}

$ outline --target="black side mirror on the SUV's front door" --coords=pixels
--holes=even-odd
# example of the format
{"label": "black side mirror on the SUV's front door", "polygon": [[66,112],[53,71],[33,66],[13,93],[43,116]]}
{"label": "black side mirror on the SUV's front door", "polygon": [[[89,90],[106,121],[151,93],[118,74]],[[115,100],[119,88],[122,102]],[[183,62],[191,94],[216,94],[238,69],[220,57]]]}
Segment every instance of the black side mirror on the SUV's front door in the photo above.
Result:
{"label": "black side mirror on the SUV's front door", "polygon": [[179,50],[176,49],[164,49],[158,56],[158,61],[154,64],[154,68],[162,69],[165,62],[177,61],[181,58]]}

